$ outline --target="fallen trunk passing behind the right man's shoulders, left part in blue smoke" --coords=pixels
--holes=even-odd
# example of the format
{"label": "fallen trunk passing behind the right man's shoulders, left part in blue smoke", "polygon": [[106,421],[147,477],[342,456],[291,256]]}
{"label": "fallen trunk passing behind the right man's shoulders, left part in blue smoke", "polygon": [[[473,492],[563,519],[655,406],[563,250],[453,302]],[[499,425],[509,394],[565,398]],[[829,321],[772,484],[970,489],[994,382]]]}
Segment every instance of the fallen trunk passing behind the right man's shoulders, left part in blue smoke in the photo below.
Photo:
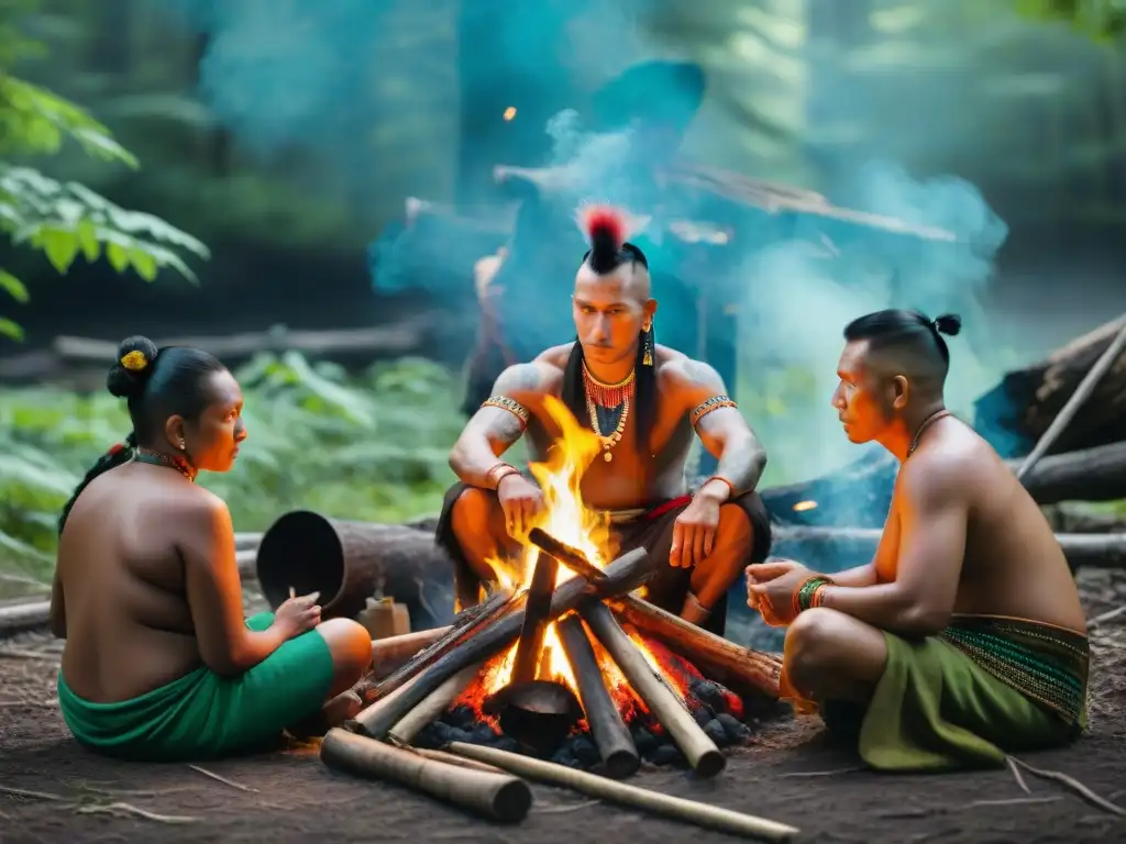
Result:
{"label": "fallen trunk passing behind the right man's shoulders, left part in blue smoke", "polygon": [[[1009,460],[1013,472],[1020,460]],[[796,524],[882,527],[899,460],[883,449],[813,481],[762,491],[777,520]],[[1126,441],[1042,458],[1022,479],[1040,504],[1126,499]]]}

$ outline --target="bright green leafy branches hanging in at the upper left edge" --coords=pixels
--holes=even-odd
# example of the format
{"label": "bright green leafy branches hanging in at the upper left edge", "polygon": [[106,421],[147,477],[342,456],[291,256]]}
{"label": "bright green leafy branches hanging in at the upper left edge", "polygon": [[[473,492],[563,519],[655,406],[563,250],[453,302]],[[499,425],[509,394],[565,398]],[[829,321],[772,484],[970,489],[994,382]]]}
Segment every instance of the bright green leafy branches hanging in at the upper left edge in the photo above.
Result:
{"label": "bright green leafy branches hanging in at the upper left edge", "polygon": [[[0,1],[0,9],[10,6]],[[145,281],[164,267],[195,281],[176,251],[207,258],[206,246],[195,237],[151,214],[125,210],[78,182],[59,182],[11,163],[15,158],[56,155],[69,138],[96,160],[138,167],[109,129],[80,106],[8,72],[16,61],[41,53],[42,45],[20,37],[10,23],[0,26],[0,236],[41,251],[61,273],[80,254],[89,262],[105,255],[116,271],[133,269]],[[28,298],[27,287],[2,268],[0,289],[16,302]],[[19,325],[5,317],[0,334],[14,340],[23,335]]]}

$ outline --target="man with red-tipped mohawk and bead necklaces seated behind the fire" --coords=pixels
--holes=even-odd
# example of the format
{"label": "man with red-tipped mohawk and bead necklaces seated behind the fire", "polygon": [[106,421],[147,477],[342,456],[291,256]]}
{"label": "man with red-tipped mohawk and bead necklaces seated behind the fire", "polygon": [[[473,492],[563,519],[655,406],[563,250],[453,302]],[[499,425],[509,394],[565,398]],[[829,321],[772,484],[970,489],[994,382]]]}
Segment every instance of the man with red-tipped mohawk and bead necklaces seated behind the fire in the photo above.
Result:
{"label": "man with red-tipped mohawk and bead necklaces seated behind the fire", "polygon": [[[582,477],[583,503],[609,514],[619,551],[664,559],[649,600],[723,635],[727,590],[770,549],[770,520],[754,487],[767,456],[706,363],[654,342],[649,262],[615,208],[580,214],[590,248],[574,281],[578,339],[506,369],[450,455],[461,482],[446,495],[437,539],[455,560],[461,605],[494,580],[489,559],[518,557],[542,512],[540,490],[501,456],[521,436],[544,460],[558,436],[545,398],[561,399],[599,436]],[[694,495],[685,477],[692,433],[718,460]]]}

